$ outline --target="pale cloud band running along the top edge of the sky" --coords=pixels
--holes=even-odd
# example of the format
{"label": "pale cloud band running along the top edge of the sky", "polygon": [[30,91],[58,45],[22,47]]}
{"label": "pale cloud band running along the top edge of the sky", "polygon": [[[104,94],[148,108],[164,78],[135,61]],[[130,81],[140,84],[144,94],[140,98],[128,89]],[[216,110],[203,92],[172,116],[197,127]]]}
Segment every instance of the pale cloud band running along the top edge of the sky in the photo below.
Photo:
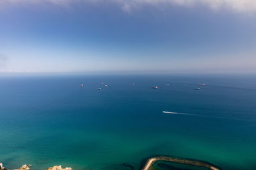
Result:
{"label": "pale cloud band running along the top edge of the sky", "polygon": [[84,3],[101,3],[111,2],[120,5],[120,8],[125,12],[143,8],[145,5],[151,6],[196,6],[204,4],[212,10],[232,10],[239,13],[256,13],[256,0],[1,0],[0,7],[4,4],[26,4],[26,3],[47,3],[60,6],[69,6],[77,2]]}

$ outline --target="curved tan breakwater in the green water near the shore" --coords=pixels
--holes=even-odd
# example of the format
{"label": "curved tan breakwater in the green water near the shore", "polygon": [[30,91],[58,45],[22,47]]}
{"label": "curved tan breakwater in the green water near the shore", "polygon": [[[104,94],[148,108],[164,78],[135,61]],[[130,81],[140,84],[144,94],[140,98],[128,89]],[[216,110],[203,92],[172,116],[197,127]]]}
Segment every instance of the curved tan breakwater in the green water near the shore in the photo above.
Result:
{"label": "curved tan breakwater in the green water near the shore", "polygon": [[148,170],[155,162],[162,160],[166,162],[176,162],[179,164],[188,164],[191,166],[200,166],[200,167],[206,167],[211,170],[220,170],[220,168],[213,166],[212,164],[209,164],[207,162],[200,162],[199,160],[187,160],[187,159],[178,159],[178,158],[172,158],[172,157],[152,157],[147,160],[147,163],[142,168],[142,170]]}

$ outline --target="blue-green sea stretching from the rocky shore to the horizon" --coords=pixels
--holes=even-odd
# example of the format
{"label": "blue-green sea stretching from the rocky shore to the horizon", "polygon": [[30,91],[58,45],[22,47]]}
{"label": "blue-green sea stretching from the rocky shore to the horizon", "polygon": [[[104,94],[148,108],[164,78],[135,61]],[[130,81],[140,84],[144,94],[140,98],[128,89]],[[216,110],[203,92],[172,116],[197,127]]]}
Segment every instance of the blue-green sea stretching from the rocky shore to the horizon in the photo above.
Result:
{"label": "blue-green sea stretching from the rocky shore to the horizon", "polygon": [[138,169],[162,154],[256,169],[256,76],[2,75],[0,153],[9,169]]}

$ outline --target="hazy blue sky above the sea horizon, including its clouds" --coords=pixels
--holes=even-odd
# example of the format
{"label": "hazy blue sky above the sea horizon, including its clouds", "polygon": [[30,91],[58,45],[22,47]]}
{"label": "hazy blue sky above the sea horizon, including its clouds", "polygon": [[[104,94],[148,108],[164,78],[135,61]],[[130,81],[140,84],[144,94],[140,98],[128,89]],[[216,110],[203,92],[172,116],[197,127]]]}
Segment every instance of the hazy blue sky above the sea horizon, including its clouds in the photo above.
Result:
{"label": "hazy blue sky above the sea horizon, including its clouds", "polygon": [[255,0],[0,0],[0,72],[256,73]]}

